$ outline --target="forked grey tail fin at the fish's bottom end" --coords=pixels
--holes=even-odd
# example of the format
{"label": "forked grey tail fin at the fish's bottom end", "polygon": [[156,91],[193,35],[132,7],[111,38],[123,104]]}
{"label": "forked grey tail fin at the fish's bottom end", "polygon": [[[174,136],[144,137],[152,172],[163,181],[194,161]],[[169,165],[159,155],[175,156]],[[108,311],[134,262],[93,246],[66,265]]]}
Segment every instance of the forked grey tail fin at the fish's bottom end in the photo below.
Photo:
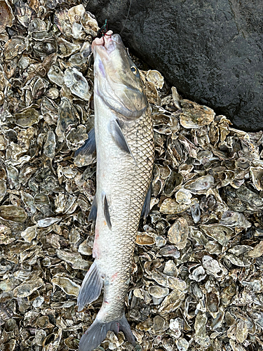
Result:
{"label": "forked grey tail fin at the fish's bottom end", "polygon": [[94,350],[106,338],[108,331],[114,331],[116,334],[119,333],[119,331],[123,331],[127,340],[132,343],[133,346],[136,345],[135,338],[130,330],[130,325],[128,324],[125,314],[123,314],[120,320],[109,323],[102,323],[99,319],[95,319],[90,328],[81,337],[79,341],[79,351]]}

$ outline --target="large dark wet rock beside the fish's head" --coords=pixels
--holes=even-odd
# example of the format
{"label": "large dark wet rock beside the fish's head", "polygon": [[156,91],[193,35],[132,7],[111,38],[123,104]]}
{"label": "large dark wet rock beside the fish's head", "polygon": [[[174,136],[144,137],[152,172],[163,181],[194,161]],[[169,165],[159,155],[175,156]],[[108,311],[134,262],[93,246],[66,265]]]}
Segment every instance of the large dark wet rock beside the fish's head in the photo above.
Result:
{"label": "large dark wet rock beside the fish's head", "polygon": [[184,98],[263,129],[262,0],[90,0],[87,9]]}

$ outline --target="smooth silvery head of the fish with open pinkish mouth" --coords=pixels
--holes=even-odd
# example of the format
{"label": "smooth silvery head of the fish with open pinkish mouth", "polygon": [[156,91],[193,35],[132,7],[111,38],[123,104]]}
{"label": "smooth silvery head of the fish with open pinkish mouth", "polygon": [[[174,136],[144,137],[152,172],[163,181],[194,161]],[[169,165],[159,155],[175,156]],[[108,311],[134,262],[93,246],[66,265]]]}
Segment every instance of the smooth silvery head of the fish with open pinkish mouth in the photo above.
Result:
{"label": "smooth silvery head of the fish with open pinkish mouth", "polygon": [[133,63],[119,34],[108,31],[92,44],[95,93],[126,119],[139,118],[147,109],[139,69]]}

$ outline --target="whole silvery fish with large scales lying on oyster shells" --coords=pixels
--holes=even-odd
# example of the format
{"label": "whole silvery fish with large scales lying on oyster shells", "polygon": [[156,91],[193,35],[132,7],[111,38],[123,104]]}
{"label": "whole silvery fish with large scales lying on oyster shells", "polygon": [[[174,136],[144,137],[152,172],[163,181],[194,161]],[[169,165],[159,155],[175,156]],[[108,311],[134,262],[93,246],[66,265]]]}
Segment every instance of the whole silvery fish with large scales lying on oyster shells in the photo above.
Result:
{"label": "whole silvery fish with large scales lying on oyster shells", "polygon": [[119,34],[107,31],[92,44],[94,131],[83,153],[97,152],[96,194],[88,219],[95,221],[93,258],[78,296],[78,310],[96,300],[102,306],[81,336],[79,351],[100,345],[107,331],[123,331],[136,345],[125,315],[137,229],[151,200],[154,133],[140,71]]}

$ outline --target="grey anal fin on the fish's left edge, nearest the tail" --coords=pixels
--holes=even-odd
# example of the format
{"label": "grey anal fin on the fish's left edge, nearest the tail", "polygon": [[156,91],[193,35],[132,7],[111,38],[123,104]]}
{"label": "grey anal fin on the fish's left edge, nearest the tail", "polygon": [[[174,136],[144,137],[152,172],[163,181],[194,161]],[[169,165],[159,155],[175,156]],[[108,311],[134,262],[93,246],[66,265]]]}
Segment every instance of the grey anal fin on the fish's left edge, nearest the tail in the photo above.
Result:
{"label": "grey anal fin on the fish's left edge, nearest the tail", "polygon": [[88,305],[88,303],[97,300],[102,290],[102,284],[100,270],[97,267],[96,261],[94,261],[81,284],[78,296],[78,311],[83,310],[84,306]]}

